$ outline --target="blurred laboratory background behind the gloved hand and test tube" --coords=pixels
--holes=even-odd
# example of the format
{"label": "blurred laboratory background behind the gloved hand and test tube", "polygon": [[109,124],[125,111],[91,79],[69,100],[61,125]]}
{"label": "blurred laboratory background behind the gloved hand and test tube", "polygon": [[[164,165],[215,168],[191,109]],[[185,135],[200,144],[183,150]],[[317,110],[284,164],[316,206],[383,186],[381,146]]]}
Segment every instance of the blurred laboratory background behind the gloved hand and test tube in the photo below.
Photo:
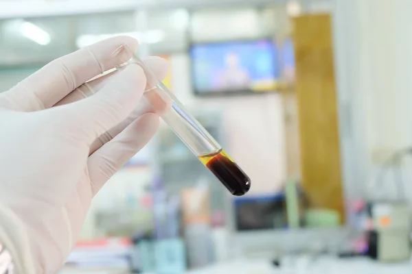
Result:
{"label": "blurred laboratory background behind the gloved hand and test tube", "polygon": [[132,36],[252,182],[232,196],[162,124],[62,273],[410,273],[409,2],[0,1],[0,91]]}

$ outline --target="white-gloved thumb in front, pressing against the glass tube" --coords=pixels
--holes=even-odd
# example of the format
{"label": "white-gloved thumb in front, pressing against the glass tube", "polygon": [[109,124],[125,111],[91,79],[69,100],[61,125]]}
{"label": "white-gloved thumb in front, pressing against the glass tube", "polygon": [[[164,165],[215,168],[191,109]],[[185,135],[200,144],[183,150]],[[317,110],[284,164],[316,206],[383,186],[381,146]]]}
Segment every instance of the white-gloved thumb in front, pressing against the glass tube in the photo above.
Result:
{"label": "white-gloved thumb in front, pressing against the glass tube", "polygon": [[[137,64],[119,71],[100,92],[86,99],[58,105],[48,111],[65,132],[74,134],[87,145],[108,129],[124,121],[138,105],[146,86],[146,76]],[[61,118],[61,119],[60,119]]]}

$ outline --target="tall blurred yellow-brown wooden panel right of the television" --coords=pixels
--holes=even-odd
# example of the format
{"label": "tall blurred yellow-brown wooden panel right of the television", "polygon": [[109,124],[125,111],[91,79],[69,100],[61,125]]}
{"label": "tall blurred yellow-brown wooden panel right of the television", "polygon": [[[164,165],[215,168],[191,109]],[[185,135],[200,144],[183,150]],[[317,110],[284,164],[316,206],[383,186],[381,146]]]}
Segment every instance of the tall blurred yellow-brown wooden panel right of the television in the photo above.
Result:
{"label": "tall blurred yellow-brown wooden panel right of the television", "polygon": [[336,210],[343,219],[330,16],[303,15],[293,23],[302,185],[310,206]]}

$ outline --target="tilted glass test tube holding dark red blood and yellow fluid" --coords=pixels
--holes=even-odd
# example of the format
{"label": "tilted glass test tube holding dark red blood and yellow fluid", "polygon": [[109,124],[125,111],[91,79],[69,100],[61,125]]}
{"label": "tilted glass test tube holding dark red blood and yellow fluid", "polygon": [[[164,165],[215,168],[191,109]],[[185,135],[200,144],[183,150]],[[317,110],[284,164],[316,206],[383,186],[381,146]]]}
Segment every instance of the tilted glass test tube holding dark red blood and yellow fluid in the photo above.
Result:
{"label": "tilted glass test tube holding dark red blood and yellow fluid", "polygon": [[[144,99],[152,105],[165,103],[171,105],[161,114],[161,118],[179,136],[185,145],[231,192],[242,196],[251,188],[251,179],[240,169],[216,140],[194,117],[187,112],[182,103],[161,82],[155,74],[126,45],[119,47],[113,55],[132,56],[122,64],[115,64],[116,69],[135,63],[139,64],[146,75]],[[116,58],[122,60],[122,58]]]}

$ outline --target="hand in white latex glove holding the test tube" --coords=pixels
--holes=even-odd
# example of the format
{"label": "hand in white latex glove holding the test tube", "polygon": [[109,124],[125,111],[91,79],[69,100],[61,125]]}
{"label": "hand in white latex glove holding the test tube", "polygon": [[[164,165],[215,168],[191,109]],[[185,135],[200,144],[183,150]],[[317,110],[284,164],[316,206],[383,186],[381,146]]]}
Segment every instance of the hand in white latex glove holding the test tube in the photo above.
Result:
{"label": "hand in white latex glove holding the test tube", "polygon": [[[23,249],[27,236],[35,273],[58,271],[93,195],[159,126],[165,109],[140,101],[146,77],[137,64],[87,82],[131,57],[112,56],[121,45],[137,49],[133,38],[110,38],[0,93],[0,242],[1,228],[12,235],[5,242],[14,238],[10,250]],[[165,60],[146,64],[165,77]]]}

